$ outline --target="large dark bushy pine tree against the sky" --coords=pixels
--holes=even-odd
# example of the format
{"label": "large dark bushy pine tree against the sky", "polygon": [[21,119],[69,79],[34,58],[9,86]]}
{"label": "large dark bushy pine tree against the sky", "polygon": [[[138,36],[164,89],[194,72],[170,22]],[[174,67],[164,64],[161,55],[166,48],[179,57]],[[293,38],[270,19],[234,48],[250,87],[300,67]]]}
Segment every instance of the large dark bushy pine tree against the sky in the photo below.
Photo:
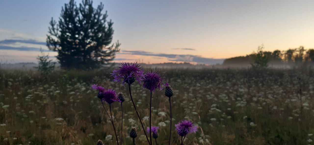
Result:
{"label": "large dark bushy pine tree against the sky", "polygon": [[50,21],[47,46],[58,52],[62,68],[94,69],[115,58],[118,42],[111,44],[113,22],[102,13],[104,5],[93,8],[93,1],[83,0],[79,6],[70,0],[62,7],[58,24]]}

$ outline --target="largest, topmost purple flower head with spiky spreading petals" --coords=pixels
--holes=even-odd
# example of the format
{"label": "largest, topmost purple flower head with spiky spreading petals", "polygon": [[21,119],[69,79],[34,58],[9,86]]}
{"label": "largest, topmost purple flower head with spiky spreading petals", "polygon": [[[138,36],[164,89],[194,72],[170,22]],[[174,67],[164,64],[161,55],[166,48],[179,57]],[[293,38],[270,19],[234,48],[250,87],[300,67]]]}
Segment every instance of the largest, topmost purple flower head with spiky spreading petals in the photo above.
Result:
{"label": "largest, topmost purple flower head with spiky spreading petals", "polygon": [[122,62],[122,66],[119,67],[116,70],[113,70],[111,76],[114,77],[113,81],[114,82],[120,82],[121,80],[122,83],[128,83],[132,84],[135,79],[138,81],[138,83],[141,84],[141,81],[143,80],[143,73],[144,71],[141,70],[142,67],[140,67],[139,64],[136,63],[127,63],[127,62]]}

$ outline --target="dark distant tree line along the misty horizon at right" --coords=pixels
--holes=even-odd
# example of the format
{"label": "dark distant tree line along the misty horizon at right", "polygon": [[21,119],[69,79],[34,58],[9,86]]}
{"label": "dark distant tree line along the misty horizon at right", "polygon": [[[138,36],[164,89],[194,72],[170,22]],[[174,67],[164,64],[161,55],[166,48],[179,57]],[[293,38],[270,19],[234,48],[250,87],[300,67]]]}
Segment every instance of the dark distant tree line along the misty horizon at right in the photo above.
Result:
{"label": "dark distant tree line along the misty horizon at right", "polygon": [[[260,62],[256,62],[259,60]],[[271,51],[262,51],[262,48],[260,49],[259,47],[257,53],[252,53],[246,56],[231,57],[231,58],[225,59],[223,64],[224,65],[250,65],[254,63],[261,64],[263,62],[267,62],[268,65],[269,64],[270,65],[271,64],[302,64],[306,62],[313,63],[314,62],[314,49],[306,50],[304,49],[303,46],[300,46],[299,48],[288,49],[286,51],[274,50],[273,52],[271,52]]]}

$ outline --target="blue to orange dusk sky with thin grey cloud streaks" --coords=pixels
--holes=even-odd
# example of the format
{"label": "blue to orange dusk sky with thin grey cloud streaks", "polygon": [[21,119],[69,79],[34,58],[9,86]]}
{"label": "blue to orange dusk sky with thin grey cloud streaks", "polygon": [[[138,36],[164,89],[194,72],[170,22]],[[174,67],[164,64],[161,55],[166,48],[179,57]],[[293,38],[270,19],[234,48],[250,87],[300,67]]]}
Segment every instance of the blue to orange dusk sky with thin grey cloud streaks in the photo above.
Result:
{"label": "blue to orange dusk sky with thin grey cloud streaks", "polygon": [[[76,1],[80,3],[81,1]],[[222,63],[266,51],[314,48],[314,1],[295,0],[94,0],[114,24],[115,62]],[[1,0],[0,63],[36,62],[51,17],[64,0]]]}

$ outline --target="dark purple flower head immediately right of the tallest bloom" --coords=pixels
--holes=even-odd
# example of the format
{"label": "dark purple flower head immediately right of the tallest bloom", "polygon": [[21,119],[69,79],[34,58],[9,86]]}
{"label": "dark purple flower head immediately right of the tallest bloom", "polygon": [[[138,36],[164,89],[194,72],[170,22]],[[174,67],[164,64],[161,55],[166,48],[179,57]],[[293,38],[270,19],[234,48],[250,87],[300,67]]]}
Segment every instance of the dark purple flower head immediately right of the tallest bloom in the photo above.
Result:
{"label": "dark purple flower head immediately right of the tallest bloom", "polygon": [[153,70],[150,72],[146,72],[146,74],[144,74],[143,88],[149,89],[150,91],[154,92],[157,88],[161,89],[160,84],[163,80],[164,79],[161,78],[158,72],[154,72]]}

